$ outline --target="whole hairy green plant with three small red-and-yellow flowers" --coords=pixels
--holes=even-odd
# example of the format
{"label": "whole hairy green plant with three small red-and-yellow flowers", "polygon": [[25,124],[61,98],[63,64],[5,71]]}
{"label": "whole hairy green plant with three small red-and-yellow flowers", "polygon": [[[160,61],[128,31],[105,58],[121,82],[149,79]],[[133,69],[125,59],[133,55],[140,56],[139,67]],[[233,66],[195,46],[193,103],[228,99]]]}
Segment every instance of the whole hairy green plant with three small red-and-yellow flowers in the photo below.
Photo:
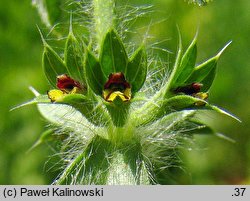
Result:
{"label": "whole hairy green plant with three small red-and-yellow flowers", "polygon": [[75,35],[71,19],[63,55],[41,34],[52,88],[46,95],[32,88],[36,97],[24,105],[37,104],[51,126],[35,146],[60,142],[64,168],[55,184],[168,183],[181,141],[216,134],[196,116],[199,111],[237,119],[208,102],[217,61],[229,43],[197,65],[197,35],[183,51],[179,33],[172,71],[162,76],[165,66],[149,62],[144,41],[128,51],[113,23],[112,0],[94,0],[91,8],[95,32],[88,40]]}

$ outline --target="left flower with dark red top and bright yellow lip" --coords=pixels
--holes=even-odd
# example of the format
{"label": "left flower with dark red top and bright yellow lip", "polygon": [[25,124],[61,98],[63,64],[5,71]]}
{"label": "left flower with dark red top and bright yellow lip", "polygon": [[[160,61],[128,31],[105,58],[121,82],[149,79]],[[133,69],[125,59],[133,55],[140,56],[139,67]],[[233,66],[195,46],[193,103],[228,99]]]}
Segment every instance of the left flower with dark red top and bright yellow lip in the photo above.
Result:
{"label": "left flower with dark red top and bright yellow lip", "polygon": [[51,102],[60,101],[65,95],[80,93],[84,89],[84,86],[80,82],[72,79],[66,74],[57,76],[56,86],[59,90],[52,89],[47,93]]}

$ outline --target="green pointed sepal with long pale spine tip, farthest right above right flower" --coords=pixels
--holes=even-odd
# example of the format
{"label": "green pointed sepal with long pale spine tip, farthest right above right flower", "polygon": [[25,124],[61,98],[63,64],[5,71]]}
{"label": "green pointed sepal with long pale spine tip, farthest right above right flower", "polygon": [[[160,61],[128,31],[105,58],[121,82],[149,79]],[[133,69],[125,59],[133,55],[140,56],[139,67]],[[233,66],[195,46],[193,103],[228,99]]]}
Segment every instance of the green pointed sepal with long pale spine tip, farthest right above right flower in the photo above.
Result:
{"label": "green pointed sepal with long pale spine tip, farthest right above right flower", "polygon": [[214,80],[216,74],[216,65],[217,61],[220,58],[223,51],[228,47],[229,42],[216,56],[210,58],[209,60],[205,61],[204,63],[196,66],[187,79],[186,83],[190,84],[193,82],[199,82],[203,84],[202,91],[207,91]]}

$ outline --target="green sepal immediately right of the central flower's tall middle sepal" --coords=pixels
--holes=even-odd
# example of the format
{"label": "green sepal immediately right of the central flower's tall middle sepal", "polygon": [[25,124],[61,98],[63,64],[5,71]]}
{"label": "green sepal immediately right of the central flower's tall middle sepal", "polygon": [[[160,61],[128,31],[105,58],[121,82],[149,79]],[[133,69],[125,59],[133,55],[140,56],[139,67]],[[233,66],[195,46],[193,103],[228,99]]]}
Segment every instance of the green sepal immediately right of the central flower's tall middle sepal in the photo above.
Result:
{"label": "green sepal immediately right of the central flower's tall middle sepal", "polygon": [[147,76],[147,55],[143,46],[132,55],[126,70],[125,77],[132,85],[132,94],[139,91]]}

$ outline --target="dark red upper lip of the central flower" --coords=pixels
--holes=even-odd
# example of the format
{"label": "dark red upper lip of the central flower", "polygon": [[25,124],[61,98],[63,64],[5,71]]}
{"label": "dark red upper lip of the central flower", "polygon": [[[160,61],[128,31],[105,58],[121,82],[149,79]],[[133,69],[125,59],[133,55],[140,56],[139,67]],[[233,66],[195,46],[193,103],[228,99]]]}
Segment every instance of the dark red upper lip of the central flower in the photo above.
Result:
{"label": "dark red upper lip of the central flower", "polygon": [[130,84],[126,81],[122,72],[111,73],[108,81],[104,85],[104,89],[126,89],[131,88]]}

